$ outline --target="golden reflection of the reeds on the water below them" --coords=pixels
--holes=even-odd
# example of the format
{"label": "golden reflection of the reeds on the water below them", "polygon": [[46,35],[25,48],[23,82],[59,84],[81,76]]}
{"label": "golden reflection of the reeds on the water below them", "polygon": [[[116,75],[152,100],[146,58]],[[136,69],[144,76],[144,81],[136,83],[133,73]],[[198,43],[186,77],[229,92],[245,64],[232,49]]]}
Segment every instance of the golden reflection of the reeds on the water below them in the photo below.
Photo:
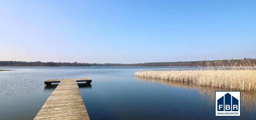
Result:
{"label": "golden reflection of the reeds on the water below them", "polygon": [[[158,82],[171,87],[178,88],[191,88],[198,90],[202,99],[207,99],[209,101],[209,105],[215,105],[215,91],[233,91],[231,89],[223,89],[223,88],[215,88],[209,86],[199,86],[192,84],[190,82],[179,82],[179,81],[170,81],[170,80],[162,80],[162,79],[154,79],[154,78],[144,78],[137,77],[137,80],[143,82]],[[246,92],[241,91],[241,115],[253,115],[256,113],[256,92]]]}

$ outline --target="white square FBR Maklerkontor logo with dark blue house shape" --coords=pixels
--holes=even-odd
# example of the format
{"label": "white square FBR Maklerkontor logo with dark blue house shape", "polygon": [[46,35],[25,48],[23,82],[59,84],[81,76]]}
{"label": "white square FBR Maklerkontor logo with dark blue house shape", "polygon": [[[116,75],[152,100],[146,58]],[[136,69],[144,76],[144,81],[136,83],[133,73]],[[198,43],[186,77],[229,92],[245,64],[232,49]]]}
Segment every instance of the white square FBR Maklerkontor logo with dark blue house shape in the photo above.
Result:
{"label": "white square FBR Maklerkontor logo with dark blue house shape", "polygon": [[240,91],[215,91],[216,116],[240,116]]}

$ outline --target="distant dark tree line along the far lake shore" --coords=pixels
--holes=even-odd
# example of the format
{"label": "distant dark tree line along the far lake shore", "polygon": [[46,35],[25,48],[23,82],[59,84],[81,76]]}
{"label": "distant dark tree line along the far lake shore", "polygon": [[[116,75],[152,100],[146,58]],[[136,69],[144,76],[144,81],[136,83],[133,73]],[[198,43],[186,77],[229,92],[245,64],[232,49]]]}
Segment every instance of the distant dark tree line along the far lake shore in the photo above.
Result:
{"label": "distant dark tree line along the far lake shore", "polygon": [[189,61],[189,62],[161,62],[161,63],[54,63],[54,62],[20,62],[20,61],[0,61],[0,66],[136,66],[136,67],[215,67],[215,66],[256,66],[256,59],[243,58],[236,60],[214,60],[214,61]]}

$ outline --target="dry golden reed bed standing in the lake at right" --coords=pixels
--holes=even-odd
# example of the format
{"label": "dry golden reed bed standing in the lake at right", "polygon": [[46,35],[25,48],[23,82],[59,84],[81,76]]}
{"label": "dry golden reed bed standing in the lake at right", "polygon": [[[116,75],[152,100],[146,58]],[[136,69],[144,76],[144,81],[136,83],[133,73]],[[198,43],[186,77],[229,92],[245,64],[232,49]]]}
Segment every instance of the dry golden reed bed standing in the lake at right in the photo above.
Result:
{"label": "dry golden reed bed standing in the lake at right", "polygon": [[[217,63],[221,66],[221,63]],[[255,65],[246,60],[230,63],[228,67],[209,66],[200,70],[152,70],[138,71],[135,76],[171,81],[191,82],[202,86],[256,91]]]}

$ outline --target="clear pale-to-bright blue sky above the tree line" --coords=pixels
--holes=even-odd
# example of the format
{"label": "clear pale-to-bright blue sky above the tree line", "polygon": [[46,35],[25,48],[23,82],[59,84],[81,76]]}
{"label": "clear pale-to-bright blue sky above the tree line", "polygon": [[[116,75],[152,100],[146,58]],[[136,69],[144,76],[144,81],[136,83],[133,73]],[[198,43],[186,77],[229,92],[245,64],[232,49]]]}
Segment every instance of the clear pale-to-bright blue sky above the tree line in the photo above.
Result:
{"label": "clear pale-to-bright blue sky above the tree line", "polygon": [[256,0],[0,0],[0,61],[256,58]]}

